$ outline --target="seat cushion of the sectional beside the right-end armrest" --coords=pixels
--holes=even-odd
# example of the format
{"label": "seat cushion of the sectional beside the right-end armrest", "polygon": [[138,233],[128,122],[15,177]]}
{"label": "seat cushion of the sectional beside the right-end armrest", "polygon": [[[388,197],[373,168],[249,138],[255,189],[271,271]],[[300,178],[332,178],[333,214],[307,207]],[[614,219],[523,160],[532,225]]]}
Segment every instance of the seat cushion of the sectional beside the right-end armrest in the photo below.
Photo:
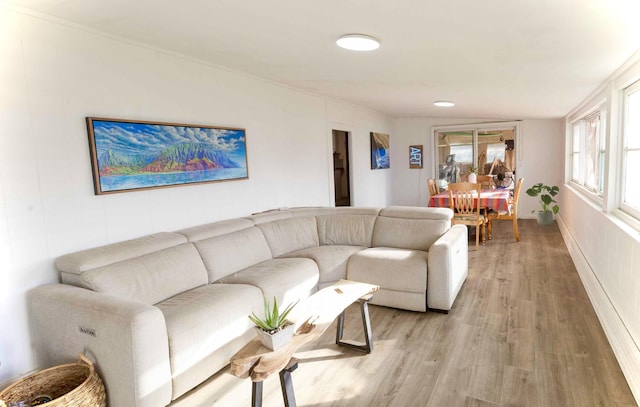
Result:
{"label": "seat cushion of the sectional beside the right-end armrest", "polygon": [[349,280],[380,288],[426,292],[428,253],[421,250],[373,247],[354,253],[347,264]]}

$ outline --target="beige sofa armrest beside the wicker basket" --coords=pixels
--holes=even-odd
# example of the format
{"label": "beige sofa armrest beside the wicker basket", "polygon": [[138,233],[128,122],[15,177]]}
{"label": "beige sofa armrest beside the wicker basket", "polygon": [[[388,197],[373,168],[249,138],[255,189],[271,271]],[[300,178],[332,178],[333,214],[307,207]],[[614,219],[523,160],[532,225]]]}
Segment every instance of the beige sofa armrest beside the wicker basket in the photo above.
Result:
{"label": "beige sofa armrest beside the wicker basket", "polygon": [[96,362],[107,405],[170,403],[169,345],[158,308],[66,284],[37,287],[28,299],[39,366],[70,363],[83,352]]}

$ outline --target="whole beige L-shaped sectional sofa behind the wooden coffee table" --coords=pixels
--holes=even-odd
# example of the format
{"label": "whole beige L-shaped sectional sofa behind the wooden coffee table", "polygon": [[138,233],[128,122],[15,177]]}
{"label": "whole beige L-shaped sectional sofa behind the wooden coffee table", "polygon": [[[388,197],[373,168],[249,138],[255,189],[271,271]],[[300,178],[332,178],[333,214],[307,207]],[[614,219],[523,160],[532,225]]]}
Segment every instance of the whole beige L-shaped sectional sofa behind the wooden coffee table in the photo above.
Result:
{"label": "whole beige L-shaped sectional sofa behind the wooden coffee table", "polygon": [[41,366],[85,352],[111,407],[169,405],[225,367],[280,304],[346,278],[372,303],[448,311],[467,276],[467,232],[449,209],[293,208],[62,256],[62,284],[29,293]]}

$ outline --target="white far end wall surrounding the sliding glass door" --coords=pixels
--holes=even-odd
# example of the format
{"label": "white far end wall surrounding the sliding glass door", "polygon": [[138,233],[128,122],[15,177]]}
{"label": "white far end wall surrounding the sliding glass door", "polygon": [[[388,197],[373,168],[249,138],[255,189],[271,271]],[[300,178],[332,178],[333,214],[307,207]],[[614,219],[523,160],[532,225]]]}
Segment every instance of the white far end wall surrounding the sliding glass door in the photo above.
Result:
{"label": "white far end wall surrounding the sliding glass door", "polygon": [[[484,123],[486,119],[402,118],[394,121],[391,146],[393,171],[392,204],[427,206],[429,191],[427,178],[435,177],[433,126]],[[516,140],[516,168],[518,178],[524,177],[523,189],[544,182],[562,185],[564,179],[564,121],[562,119],[524,120],[520,122]],[[424,168],[409,169],[409,146],[422,144]],[[559,196],[558,198],[561,198]],[[561,201],[559,201],[561,203]],[[537,200],[523,193],[518,206],[522,218],[535,218]]]}

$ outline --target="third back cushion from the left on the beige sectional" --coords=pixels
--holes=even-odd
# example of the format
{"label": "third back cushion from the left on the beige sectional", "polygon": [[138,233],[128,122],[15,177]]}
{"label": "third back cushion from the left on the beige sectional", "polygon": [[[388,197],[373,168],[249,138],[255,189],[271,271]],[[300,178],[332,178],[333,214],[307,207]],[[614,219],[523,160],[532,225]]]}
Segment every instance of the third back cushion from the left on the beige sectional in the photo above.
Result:
{"label": "third back cushion from the left on the beige sectional", "polygon": [[258,227],[267,239],[273,257],[319,245],[315,216],[282,219]]}

